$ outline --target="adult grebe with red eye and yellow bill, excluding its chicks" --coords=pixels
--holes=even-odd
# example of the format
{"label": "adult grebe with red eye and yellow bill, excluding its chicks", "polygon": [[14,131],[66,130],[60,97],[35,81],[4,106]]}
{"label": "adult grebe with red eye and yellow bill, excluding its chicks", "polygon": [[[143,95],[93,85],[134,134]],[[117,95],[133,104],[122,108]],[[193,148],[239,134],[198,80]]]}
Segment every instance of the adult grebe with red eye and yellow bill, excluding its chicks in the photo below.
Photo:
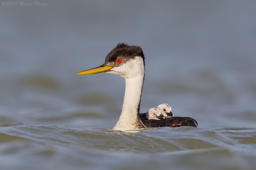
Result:
{"label": "adult grebe with red eye and yellow bill, excluding its chicks", "polygon": [[[175,117],[175,121],[161,122],[162,120],[145,120],[143,124],[140,116],[140,97],[144,82],[145,63],[142,49],[139,46],[128,46],[125,43],[118,43],[117,46],[110,51],[105,59],[105,63],[99,67],[85,70],[77,74],[96,74],[107,72],[110,74],[118,74],[125,78],[125,92],[122,113],[113,130],[132,130],[149,127],[162,127],[175,125],[177,126],[194,126],[197,122],[192,118]],[[174,119],[173,119],[174,120]],[[187,123],[190,120],[190,123]],[[150,123],[152,121],[153,124]],[[154,122],[159,121],[159,122]],[[185,122],[184,122],[185,121]],[[159,123],[161,125],[159,125]],[[196,124],[195,124],[196,123]]]}

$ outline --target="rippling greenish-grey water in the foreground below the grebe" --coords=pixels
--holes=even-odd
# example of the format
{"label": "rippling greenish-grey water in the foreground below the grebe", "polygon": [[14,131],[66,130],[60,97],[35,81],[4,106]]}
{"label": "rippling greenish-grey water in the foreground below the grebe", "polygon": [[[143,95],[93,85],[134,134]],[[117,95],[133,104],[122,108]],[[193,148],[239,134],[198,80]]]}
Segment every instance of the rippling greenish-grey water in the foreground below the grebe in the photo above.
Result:
{"label": "rippling greenish-grey water in the foreground below the grebe", "polygon": [[[256,129],[0,128],[6,169],[254,169]],[[19,166],[19,168],[17,168]],[[212,166],[212,167],[211,167]]]}

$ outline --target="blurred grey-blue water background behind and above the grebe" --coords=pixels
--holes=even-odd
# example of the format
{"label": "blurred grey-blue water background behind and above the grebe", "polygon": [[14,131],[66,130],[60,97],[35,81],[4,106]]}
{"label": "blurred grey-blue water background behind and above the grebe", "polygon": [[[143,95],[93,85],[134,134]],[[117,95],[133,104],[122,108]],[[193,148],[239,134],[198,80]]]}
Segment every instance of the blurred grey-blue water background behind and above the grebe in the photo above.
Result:
{"label": "blurred grey-blue water background behind and above the grebe", "polygon": [[140,113],[168,103],[200,128],[255,128],[256,1],[26,2],[0,5],[0,126],[112,129],[124,78],[76,73],[125,42],[145,55]]}

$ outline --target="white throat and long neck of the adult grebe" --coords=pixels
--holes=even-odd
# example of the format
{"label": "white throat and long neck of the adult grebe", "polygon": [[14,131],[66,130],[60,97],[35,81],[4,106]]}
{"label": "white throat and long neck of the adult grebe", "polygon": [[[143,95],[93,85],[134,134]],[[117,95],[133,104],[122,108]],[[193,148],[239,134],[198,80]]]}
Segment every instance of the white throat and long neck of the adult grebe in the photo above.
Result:
{"label": "white throat and long neck of the adult grebe", "polygon": [[140,96],[144,81],[144,62],[141,57],[111,69],[110,74],[125,78],[125,93],[122,113],[113,130],[132,130],[146,128],[139,116]]}

